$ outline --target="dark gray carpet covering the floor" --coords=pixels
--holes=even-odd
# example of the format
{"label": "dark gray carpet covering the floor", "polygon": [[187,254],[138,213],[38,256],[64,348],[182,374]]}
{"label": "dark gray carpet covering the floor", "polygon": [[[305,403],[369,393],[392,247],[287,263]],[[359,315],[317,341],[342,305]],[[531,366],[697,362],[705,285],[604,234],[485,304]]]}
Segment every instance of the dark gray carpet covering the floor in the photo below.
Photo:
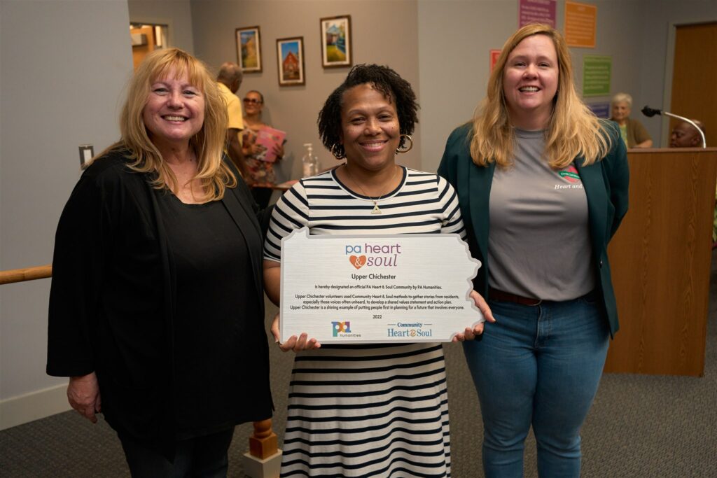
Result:
{"label": "dark gray carpet covering the floor", "polygon": [[[713,254],[705,376],[606,374],[582,432],[583,477],[717,477],[717,254]],[[267,324],[275,307],[267,309]],[[624,319],[623,319],[624,320]],[[267,327],[268,329],[268,327]],[[292,354],[272,346],[274,429],[282,439]],[[445,346],[452,475],[481,477],[478,399],[459,345]],[[229,476],[242,477],[250,424],[237,427]],[[535,441],[526,477],[536,477]],[[128,477],[119,441],[104,422],[66,412],[0,431],[2,477]]]}

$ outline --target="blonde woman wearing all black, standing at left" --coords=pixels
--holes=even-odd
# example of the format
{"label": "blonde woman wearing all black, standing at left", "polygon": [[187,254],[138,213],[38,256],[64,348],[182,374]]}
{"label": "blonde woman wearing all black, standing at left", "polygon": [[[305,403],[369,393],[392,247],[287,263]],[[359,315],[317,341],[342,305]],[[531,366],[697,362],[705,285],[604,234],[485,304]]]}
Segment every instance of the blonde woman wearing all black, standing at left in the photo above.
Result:
{"label": "blonde woman wearing all black, standing at left", "polygon": [[120,130],[57,226],[47,373],[104,414],[133,477],[226,476],[234,426],[272,416],[261,213],[190,54],[147,55]]}

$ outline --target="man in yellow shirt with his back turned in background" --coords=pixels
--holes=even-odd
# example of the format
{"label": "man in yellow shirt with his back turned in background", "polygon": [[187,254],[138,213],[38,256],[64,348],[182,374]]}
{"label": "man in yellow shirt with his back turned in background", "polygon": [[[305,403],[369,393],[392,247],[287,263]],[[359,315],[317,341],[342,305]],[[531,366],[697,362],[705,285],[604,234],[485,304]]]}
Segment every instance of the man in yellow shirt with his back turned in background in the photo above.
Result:
{"label": "man in yellow shirt with his back turned in background", "polygon": [[242,115],[242,102],[239,101],[236,93],[242,85],[242,69],[238,64],[232,62],[222,63],[219,67],[217,75],[217,84],[219,92],[227,103],[227,115],[229,123],[227,123],[227,153],[232,158],[234,165],[239,168],[242,176],[247,175],[246,165],[244,164],[244,154],[242,153],[242,143],[239,135],[244,129],[244,115]]}

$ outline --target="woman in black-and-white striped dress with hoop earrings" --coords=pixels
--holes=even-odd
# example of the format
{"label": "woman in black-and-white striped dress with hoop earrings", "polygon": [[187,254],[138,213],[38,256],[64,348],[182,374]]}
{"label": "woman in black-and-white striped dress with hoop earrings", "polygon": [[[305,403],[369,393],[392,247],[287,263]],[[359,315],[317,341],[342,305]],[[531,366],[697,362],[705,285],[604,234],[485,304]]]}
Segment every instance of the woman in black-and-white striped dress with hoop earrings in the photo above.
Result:
{"label": "woman in black-and-white striped dress with hoop earrings", "polygon": [[[388,67],[357,65],[318,117],[323,144],[346,163],[305,178],[277,202],[265,242],[265,287],[280,297],[281,239],[310,234],[465,235],[455,191],[398,166],[417,122],[411,85]],[[485,301],[474,300],[488,320]],[[466,329],[457,340],[483,330]],[[279,340],[278,322],[272,332]],[[320,345],[295,350],[282,476],[450,475],[445,363],[440,343]]]}

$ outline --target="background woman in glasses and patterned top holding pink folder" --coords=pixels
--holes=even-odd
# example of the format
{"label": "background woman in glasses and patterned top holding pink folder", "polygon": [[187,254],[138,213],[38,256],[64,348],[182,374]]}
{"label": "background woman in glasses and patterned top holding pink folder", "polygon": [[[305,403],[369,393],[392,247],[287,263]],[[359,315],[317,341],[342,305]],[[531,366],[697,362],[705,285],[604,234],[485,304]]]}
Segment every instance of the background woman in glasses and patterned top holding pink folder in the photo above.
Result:
{"label": "background woman in glasses and patterned top holding pink folder", "polygon": [[[271,127],[262,121],[264,95],[256,90],[244,95],[244,133],[242,133],[242,153],[246,161],[245,179],[252,188],[252,194],[261,208],[267,207],[275,185],[274,163],[260,159],[262,146],[257,144],[257,133],[262,128]],[[274,145],[277,161],[284,158],[284,145]]]}

